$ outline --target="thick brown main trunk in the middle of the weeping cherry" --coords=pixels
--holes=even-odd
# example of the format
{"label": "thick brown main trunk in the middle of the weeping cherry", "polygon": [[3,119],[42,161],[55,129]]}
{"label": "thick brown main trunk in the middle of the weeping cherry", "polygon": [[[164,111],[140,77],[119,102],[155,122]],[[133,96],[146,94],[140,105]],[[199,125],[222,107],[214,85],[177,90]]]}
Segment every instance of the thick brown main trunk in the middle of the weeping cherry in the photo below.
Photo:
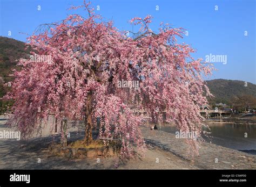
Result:
{"label": "thick brown main trunk in the middle of the weeping cherry", "polygon": [[86,112],[85,112],[85,142],[89,145],[92,142],[92,93],[87,97]]}

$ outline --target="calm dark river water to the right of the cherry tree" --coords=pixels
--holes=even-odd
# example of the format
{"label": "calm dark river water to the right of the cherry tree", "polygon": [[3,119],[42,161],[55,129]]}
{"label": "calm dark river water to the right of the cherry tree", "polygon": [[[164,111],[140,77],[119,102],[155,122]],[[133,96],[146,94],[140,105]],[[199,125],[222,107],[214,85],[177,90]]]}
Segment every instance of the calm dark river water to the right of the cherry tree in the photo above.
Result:
{"label": "calm dark river water to the right of the cherry tree", "polygon": [[[205,125],[211,128],[211,138],[205,139],[207,142],[256,155],[255,124],[206,122]],[[177,131],[174,126],[161,126],[161,130],[169,133]]]}

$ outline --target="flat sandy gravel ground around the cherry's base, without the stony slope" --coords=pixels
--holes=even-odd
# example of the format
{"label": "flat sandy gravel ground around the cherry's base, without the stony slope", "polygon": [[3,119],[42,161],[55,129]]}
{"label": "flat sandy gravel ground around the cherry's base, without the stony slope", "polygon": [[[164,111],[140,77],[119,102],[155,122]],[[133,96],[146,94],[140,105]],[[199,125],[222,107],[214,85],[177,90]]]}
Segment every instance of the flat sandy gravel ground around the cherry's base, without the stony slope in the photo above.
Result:
{"label": "flat sandy gravel ground around the cherry's base, without the stony slope", "polygon": [[[5,122],[0,120],[0,131],[11,131]],[[82,138],[83,132],[71,132],[69,141]],[[55,140],[59,141],[59,136]],[[98,157],[97,163],[97,158],[68,160],[52,156],[48,150],[51,142],[50,136],[26,141],[0,139],[0,169],[115,169],[116,157]],[[117,169],[198,169],[193,162],[151,145],[147,145],[144,157],[119,161],[118,166]]]}

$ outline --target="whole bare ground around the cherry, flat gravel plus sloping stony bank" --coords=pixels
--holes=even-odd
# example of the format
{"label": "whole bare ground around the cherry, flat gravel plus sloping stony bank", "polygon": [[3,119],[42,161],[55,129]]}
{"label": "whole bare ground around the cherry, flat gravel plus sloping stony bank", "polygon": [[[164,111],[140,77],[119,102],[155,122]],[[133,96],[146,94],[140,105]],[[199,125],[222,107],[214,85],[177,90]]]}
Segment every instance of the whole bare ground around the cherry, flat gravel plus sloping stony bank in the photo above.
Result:
{"label": "whole bare ground around the cherry, flat gravel plus sloping stony bank", "polygon": [[[0,131],[11,131],[5,123],[0,120]],[[147,145],[145,157],[122,161],[118,169],[256,169],[255,155],[203,142],[199,156],[191,157],[184,139],[148,127],[141,129]],[[68,141],[83,137],[84,131],[72,131]],[[59,138],[55,135],[54,141],[59,142]],[[52,156],[48,149],[52,141],[52,135],[21,141],[0,139],[0,169],[114,169],[116,157],[99,157],[98,163],[97,158],[68,160]]]}

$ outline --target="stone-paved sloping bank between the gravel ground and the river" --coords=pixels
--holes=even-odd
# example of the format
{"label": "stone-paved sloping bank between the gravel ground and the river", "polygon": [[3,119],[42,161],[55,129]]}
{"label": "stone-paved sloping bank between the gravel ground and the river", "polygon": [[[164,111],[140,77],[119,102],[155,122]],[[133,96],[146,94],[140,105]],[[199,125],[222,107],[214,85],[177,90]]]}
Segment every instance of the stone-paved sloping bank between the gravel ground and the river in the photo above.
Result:
{"label": "stone-paved sloping bank between the gravel ground and the river", "polygon": [[150,131],[146,127],[142,127],[142,131],[147,143],[193,162],[193,166],[200,169],[256,169],[255,155],[202,142],[199,156],[191,157],[187,152],[190,147],[185,143],[185,139],[176,139],[174,134]]}

